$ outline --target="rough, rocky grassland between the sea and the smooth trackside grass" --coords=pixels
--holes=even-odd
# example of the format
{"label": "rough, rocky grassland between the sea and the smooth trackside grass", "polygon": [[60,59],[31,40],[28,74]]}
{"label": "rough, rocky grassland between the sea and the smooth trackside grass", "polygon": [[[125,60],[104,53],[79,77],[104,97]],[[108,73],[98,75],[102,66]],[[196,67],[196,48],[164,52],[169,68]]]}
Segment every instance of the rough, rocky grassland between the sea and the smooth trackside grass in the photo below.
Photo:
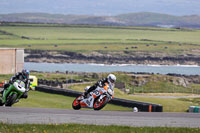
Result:
{"label": "rough, rocky grassland between the sea and the smooth trackside grass", "polygon": [[[200,94],[200,84],[185,82],[185,78],[168,76],[161,74],[131,74],[123,72],[114,72],[117,82],[125,84],[129,89],[129,94],[135,93],[188,93]],[[97,82],[108,73],[37,73],[32,72],[31,75],[37,76],[38,79],[54,80],[66,82],[67,80],[90,81]],[[0,81],[9,80],[13,75],[0,75]],[[70,85],[70,84],[69,84]],[[92,84],[88,84],[92,85]],[[74,87],[85,88],[86,85]],[[74,89],[71,88],[71,89]],[[80,90],[78,90],[80,91]]]}

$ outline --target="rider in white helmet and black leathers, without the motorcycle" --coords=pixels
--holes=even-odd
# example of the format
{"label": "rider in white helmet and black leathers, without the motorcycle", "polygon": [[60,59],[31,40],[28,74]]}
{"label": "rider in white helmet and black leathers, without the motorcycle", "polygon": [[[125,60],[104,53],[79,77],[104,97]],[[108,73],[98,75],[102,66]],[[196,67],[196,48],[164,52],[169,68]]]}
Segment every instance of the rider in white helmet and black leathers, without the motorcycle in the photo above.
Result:
{"label": "rider in white helmet and black leathers, without the motorcycle", "polygon": [[91,86],[88,90],[86,90],[86,92],[84,92],[84,94],[83,94],[84,98],[86,98],[87,95],[91,91],[95,90],[98,86],[103,87],[105,85],[105,83],[108,83],[109,86],[111,86],[111,88],[114,88],[114,83],[115,83],[116,79],[117,78],[114,74],[109,74],[106,78],[102,78],[97,83],[95,83],[93,86]]}

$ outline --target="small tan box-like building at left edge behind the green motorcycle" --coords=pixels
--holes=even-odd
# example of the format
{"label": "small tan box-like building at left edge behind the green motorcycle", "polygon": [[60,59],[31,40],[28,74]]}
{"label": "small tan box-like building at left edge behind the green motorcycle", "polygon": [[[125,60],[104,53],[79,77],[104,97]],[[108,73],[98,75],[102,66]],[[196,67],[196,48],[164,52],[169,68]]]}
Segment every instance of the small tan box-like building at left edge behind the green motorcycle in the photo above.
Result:
{"label": "small tan box-like building at left edge behind the green motorcycle", "polygon": [[24,68],[24,49],[0,48],[0,74],[14,74]]}

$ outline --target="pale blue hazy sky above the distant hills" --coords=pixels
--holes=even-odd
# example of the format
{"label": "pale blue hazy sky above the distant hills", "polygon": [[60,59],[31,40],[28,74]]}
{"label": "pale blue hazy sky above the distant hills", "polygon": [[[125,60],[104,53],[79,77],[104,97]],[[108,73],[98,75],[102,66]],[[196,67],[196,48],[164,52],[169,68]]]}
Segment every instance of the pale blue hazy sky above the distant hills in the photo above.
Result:
{"label": "pale blue hazy sky above the distant hills", "polygon": [[0,0],[0,14],[23,12],[106,16],[132,12],[200,15],[200,0]]}

